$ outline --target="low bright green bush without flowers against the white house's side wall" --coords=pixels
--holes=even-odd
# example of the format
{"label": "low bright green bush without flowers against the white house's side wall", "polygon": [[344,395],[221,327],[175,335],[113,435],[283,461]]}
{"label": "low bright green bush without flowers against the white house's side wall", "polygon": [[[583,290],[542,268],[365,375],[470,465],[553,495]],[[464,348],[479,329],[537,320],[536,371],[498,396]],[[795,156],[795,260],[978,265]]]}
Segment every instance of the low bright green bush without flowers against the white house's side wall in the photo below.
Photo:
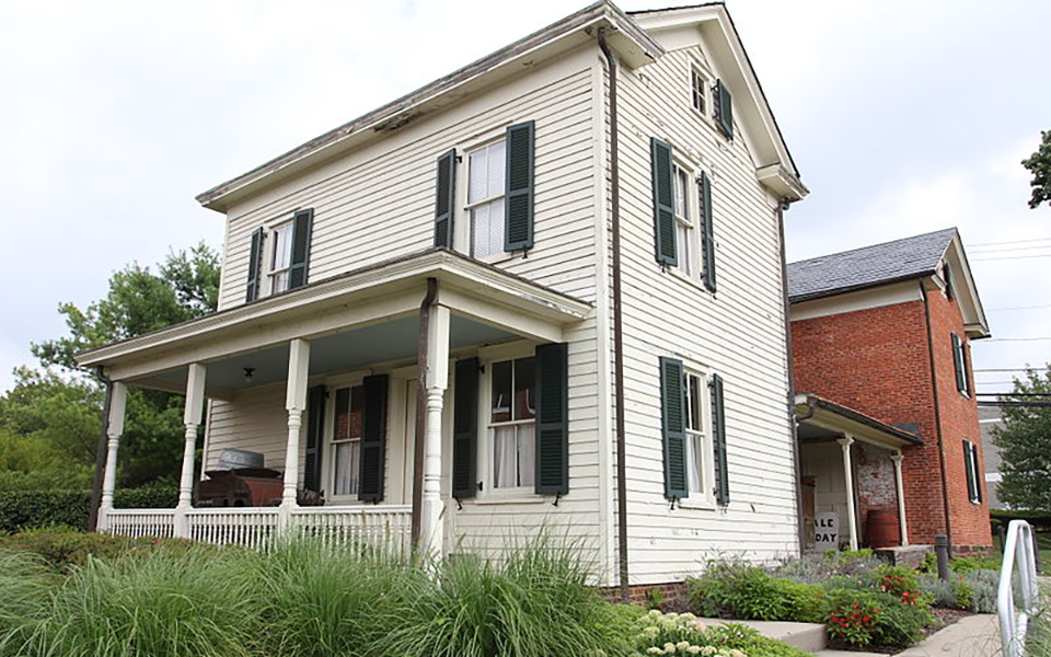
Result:
{"label": "low bright green bush without flowers against the white house's side wall", "polygon": [[758,567],[709,570],[690,583],[690,598],[694,611],[705,615],[820,623],[825,612],[820,586],[773,577]]}

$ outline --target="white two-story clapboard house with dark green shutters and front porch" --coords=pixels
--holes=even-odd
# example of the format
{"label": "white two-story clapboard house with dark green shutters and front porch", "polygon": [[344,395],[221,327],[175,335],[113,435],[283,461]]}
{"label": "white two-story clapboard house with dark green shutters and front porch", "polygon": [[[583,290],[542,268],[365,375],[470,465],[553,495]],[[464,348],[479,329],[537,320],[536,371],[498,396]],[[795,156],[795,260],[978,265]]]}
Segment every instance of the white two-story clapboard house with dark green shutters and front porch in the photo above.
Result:
{"label": "white two-story clapboard house with dark green shutters and front porch", "polygon": [[[545,527],[625,591],[797,552],[805,194],[723,4],[587,7],[198,196],[219,311],[79,357],[114,381],[103,527],[439,555]],[[186,393],[175,509],[113,508],[128,385]],[[201,424],[203,470],[261,453],[279,506],[194,507]]]}

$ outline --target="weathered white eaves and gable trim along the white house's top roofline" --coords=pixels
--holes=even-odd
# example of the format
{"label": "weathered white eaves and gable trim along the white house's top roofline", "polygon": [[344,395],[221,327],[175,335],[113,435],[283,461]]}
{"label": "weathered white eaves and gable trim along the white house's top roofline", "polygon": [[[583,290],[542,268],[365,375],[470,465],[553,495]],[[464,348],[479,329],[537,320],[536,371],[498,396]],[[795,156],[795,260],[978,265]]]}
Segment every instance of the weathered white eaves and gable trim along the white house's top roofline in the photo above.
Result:
{"label": "weathered white eaves and gable trim along the white house's top roofline", "polygon": [[665,55],[661,45],[648,34],[650,28],[685,24],[701,27],[713,39],[718,57],[735,65],[727,67],[726,82],[734,90],[735,97],[742,100],[740,104],[735,102],[735,115],[760,136],[761,157],[755,172],[758,180],[783,198],[802,198],[808,191],[799,181],[799,173],[726,7],[721,2],[713,2],[683,9],[688,11],[656,10],[628,15],[609,0],[598,0],[539,32],[199,194],[197,201],[207,208],[226,211],[240,198],[331,161],[369,139],[382,137],[466,94],[510,77],[522,70],[523,62],[534,65],[593,39],[599,27],[609,28],[610,45],[619,58],[628,67],[637,68]]}

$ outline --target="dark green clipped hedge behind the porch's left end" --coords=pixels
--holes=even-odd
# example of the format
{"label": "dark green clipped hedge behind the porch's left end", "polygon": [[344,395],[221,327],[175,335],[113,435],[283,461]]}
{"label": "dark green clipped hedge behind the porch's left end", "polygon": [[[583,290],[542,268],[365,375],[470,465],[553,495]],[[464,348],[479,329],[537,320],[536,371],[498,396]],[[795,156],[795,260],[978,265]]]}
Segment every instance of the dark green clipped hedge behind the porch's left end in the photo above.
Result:
{"label": "dark green clipped hedge behind the porch's left end", "polygon": [[[172,508],[176,502],[174,486],[118,488],[114,494],[117,508]],[[86,530],[90,504],[91,493],[84,491],[0,492],[0,532],[53,526]]]}

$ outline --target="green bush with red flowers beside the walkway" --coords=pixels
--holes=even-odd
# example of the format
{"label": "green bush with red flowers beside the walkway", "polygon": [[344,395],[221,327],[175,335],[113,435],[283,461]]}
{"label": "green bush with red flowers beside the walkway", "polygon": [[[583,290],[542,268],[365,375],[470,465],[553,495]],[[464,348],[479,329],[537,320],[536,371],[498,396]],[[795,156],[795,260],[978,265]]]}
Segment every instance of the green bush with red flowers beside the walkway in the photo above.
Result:
{"label": "green bush with red flowers beside the walkway", "polygon": [[881,591],[833,591],[827,627],[832,637],[855,647],[905,647],[923,637],[931,621],[925,607],[905,604]]}

